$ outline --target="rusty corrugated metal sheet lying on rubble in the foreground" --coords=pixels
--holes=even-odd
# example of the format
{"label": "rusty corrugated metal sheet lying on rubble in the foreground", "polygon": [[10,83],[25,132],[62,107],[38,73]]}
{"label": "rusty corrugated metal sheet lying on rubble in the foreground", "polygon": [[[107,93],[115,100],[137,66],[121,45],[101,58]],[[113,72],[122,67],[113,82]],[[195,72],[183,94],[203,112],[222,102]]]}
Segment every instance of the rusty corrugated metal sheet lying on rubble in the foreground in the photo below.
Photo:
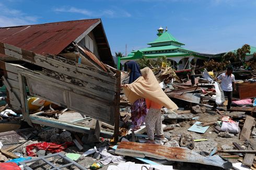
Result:
{"label": "rusty corrugated metal sheet lying on rubble in the foreground", "polygon": [[205,157],[188,148],[166,147],[152,143],[121,142],[115,154],[142,158],[148,156],[160,160],[200,163],[222,168],[232,167],[230,162],[217,155]]}

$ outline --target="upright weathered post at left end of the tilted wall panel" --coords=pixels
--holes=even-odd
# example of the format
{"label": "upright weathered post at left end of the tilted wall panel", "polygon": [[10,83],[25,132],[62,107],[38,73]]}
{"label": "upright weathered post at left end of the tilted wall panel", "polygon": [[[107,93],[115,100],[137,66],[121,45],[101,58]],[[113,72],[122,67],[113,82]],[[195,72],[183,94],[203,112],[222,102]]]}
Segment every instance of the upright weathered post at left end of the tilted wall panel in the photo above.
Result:
{"label": "upright weathered post at left end of the tilted wall panel", "polygon": [[27,102],[27,92],[26,92],[26,78],[19,74],[19,90],[20,90],[20,100],[21,100],[21,112],[23,118],[26,122],[33,127],[31,120],[29,119],[29,110]]}

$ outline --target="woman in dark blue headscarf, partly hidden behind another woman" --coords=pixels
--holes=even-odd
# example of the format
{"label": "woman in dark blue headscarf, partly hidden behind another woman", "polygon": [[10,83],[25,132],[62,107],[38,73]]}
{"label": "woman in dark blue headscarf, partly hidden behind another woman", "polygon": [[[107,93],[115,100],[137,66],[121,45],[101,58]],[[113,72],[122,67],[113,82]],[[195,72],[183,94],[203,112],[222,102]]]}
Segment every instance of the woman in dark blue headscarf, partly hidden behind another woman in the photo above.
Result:
{"label": "woman in dark blue headscarf, partly hidden behind another woman", "polygon": [[[129,84],[133,83],[136,79],[141,77],[141,70],[139,69],[139,65],[134,62],[128,62],[126,63],[128,67],[128,71],[130,72],[130,78],[129,78]],[[123,87],[125,87],[124,85]],[[136,100],[130,101],[132,104],[131,106],[131,118],[132,118],[132,124],[133,130],[137,130],[141,127],[141,125],[145,122],[145,117],[147,114],[147,107],[145,99],[141,96],[136,96]]]}

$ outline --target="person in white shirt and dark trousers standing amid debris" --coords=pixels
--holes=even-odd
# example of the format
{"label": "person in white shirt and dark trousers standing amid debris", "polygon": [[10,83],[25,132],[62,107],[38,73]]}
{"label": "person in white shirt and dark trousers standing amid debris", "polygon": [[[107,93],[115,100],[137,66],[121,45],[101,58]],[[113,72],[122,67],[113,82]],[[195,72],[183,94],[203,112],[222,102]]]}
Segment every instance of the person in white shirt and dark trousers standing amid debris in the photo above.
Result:
{"label": "person in white shirt and dark trousers standing amid debris", "polygon": [[218,76],[218,80],[222,80],[222,90],[224,92],[224,95],[228,98],[228,105],[227,110],[231,107],[232,102],[232,91],[236,91],[235,87],[235,76],[232,74],[233,67],[228,66],[226,72]]}

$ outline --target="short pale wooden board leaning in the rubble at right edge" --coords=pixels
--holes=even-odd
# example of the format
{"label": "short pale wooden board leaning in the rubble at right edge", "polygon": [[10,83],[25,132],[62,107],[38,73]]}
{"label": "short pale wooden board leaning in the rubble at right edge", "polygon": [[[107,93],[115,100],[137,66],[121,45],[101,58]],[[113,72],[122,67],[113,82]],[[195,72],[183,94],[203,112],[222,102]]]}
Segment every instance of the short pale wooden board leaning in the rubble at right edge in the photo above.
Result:
{"label": "short pale wooden board leaning in the rubble at right edge", "polygon": [[247,115],[245,124],[243,124],[243,128],[239,136],[240,140],[250,139],[253,122],[254,122],[254,117]]}

